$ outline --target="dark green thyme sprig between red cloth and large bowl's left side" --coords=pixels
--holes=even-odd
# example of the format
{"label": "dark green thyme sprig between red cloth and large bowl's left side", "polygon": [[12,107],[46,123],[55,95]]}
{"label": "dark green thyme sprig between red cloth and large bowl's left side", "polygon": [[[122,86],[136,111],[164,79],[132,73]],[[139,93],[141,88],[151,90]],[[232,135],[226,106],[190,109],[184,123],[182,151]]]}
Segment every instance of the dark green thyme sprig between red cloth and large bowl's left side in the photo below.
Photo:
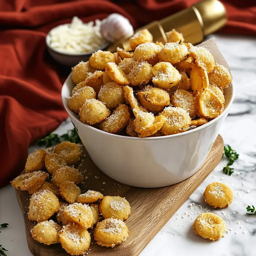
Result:
{"label": "dark green thyme sprig between red cloth and large bowl's left side", "polygon": [[55,133],[47,134],[44,138],[41,138],[40,140],[38,140],[37,144],[39,146],[50,147],[50,146],[57,145],[62,141],[79,143],[81,140],[76,129],[74,128],[74,129],[68,130],[67,133],[62,134],[61,136]]}

